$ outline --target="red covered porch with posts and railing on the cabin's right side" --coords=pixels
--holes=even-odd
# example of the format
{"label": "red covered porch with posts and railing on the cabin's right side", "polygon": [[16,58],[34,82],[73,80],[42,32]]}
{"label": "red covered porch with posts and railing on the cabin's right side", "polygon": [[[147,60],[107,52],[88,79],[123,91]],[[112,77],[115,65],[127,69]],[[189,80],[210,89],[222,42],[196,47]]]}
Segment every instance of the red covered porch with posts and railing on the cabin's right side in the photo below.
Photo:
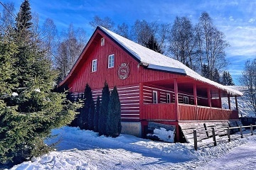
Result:
{"label": "red covered porch with posts and railing on the cabin's right side", "polygon": [[[222,89],[221,86],[183,77],[146,82],[140,84],[140,88],[140,91],[143,91],[140,96],[141,120],[239,119],[237,101],[239,94],[233,93],[232,89],[229,91],[224,86]],[[222,108],[221,98],[228,98],[228,109]],[[231,99],[235,100],[235,111],[231,110]]]}

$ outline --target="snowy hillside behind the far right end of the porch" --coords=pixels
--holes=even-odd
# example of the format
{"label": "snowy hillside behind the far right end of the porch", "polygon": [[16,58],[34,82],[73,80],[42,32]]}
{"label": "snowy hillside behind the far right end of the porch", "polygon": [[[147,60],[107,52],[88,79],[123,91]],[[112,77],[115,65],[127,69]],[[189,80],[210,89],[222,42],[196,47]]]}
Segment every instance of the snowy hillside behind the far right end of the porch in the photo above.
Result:
{"label": "snowy hillside behind the far right end of the porch", "polygon": [[[238,97],[238,111],[239,117],[255,117],[255,111],[250,103],[248,97],[246,96],[246,89],[243,86],[228,86],[229,88],[238,90],[244,94],[244,96]],[[228,108],[228,98],[222,98],[223,108]],[[235,110],[235,98],[230,98],[231,109]]]}

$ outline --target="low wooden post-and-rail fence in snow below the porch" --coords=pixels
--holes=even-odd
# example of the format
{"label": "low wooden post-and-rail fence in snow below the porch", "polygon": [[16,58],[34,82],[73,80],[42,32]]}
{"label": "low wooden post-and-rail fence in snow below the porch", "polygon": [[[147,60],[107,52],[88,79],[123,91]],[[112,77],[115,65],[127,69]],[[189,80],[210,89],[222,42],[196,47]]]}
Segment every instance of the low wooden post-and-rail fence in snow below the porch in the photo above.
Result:
{"label": "low wooden post-and-rail fence in snow below the porch", "polygon": [[[214,129],[211,128],[210,132],[212,133],[212,137],[213,138],[213,145],[217,146],[217,142],[219,141],[226,141],[226,142],[230,142],[232,138],[238,138],[238,135],[230,135],[230,131],[231,130],[235,130],[235,129],[239,129],[240,130],[240,137],[244,137],[246,135],[254,135],[256,134],[255,132],[253,132],[253,127],[256,127],[256,125],[249,125],[249,126],[240,126],[240,127],[233,127],[233,128],[221,128],[221,129]],[[250,133],[249,134],[243,134],[243,128],[250,128]],[[226,135],[223,136],[219,136],[218,140],[216,139],[216,135],[215,132],[220,132],[220,131],[224,131],[226,132]],[[205,130],[203,132],[200,133],[205,133],[205,132],[209,132],[209,130]],[[194,139],[194,148],[197,150],[198,149],[198,132],[196,132],[196,130],[193,130],[193,139]],[[210,139],[208,138],[208,139]],[[210,142],[201,142],[201,145],[208,145]]]}

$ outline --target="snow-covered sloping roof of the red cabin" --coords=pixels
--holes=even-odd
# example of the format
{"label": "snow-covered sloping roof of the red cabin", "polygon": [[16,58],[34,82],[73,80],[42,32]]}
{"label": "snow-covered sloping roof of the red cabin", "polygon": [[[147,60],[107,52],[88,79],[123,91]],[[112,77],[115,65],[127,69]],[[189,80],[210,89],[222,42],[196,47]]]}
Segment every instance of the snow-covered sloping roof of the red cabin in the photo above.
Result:
{"label": "snow-covered sloping roof of the red cabin", "polygon": [[150,50],[149,48],[143,47],[142,45],[139,45],[132,40],[128,40],[127,38],[117,35],[116,33],[113,33],[112,31],[107,30],[104,27],[99,28],[107,35],[109,35],[112,39],[114,39],[117,43],[119,43],[119,45],[121,45],[125,50],[127,50],[134,57],[136,57],[141,64],[146,65],[149,69],[174,72],[177,74],[186,74],[192,79],[205,82],[207,84],[215,86],[218,89],[227,91],[228,94],[231,94],[233,96],[242,96],[242,93],[240,91],[230,89],[227,86],[223,86],[222,84],[218,84],[215,81],[206,79],[200,74],[194,72],[192,69],[186,67],[186,65],[182,64],[178,60],[174,60],[171,57],[166,57],[165,55],[161,55],[159,52],[155,52],[153,50]]}

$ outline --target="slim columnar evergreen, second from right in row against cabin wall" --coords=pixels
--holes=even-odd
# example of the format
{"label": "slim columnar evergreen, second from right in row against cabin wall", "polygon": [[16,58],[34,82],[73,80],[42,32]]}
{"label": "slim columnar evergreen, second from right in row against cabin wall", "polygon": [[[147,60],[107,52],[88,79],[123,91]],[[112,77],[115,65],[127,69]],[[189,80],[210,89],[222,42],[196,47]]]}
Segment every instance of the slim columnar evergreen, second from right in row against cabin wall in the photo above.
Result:
{"label": "slim columnar evergreen, second from right in row against cabin wall", "polygon": [[104,87],[102,89],[102,101],[100,103],[100,116],[99,116],[99,135],[107,135],[107,109],[110,101],[110,90],[105,81]]}

